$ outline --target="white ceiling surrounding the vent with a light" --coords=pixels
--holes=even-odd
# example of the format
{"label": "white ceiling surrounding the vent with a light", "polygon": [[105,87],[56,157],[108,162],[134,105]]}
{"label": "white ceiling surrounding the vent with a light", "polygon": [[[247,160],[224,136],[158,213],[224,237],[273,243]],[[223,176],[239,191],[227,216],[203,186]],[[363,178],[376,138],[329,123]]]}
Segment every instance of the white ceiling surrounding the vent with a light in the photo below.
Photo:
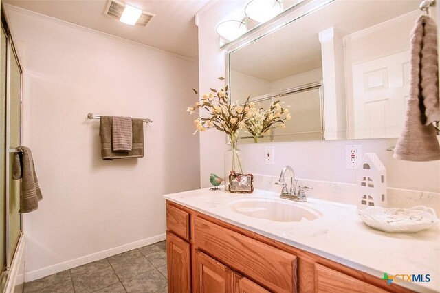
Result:
{"label": "white ceiling surrounding the vent with a light", "polygon": [[63,21],[197,59],[195,14],[210,0],[126,0],[156,14],[146,27],[120,23],[104,14],[107,0],[3,0]]}

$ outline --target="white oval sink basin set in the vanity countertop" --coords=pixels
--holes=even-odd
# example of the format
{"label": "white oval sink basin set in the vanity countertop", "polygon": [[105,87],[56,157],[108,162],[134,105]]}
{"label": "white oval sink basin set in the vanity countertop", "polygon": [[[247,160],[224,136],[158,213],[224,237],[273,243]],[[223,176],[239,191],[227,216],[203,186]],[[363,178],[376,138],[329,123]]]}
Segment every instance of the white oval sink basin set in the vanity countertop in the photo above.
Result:
{"label": "white oval sink basin set in the vanity countertop", "polygon": [[322,216],[307,203],[287,202],[286,199],[236,199],[229,206],[236,213],[271,221],[313,221]]}

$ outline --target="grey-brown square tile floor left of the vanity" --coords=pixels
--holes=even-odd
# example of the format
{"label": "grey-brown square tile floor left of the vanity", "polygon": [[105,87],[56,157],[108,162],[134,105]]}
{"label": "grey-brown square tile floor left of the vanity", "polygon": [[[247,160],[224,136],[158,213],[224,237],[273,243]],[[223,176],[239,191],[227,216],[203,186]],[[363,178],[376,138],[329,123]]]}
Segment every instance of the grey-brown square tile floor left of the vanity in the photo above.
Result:
{"label": "grey-brown square tile floor left of the vanity", "polygon": [[166,241],[25,283],[25,293],[168,292]]}

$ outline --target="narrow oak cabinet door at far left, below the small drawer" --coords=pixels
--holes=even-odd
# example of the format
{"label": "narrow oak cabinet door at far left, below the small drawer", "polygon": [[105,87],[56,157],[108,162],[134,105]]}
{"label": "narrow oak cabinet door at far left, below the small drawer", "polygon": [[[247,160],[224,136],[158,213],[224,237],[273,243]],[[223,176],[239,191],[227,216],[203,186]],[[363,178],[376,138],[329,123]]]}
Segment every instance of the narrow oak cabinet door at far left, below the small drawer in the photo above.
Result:
{"label": "narrow oak cabinet door at far left, below the small drawer", "polygon": [[168,292],[191,292],[190,244],[166,232]]}

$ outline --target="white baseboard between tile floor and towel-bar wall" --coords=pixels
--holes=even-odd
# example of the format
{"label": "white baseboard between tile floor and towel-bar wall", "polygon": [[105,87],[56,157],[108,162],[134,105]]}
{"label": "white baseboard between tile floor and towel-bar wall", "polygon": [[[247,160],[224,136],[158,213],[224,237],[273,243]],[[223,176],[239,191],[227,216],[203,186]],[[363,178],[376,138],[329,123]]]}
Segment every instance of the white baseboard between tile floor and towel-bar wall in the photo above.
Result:
{"label": "white baseboard between tile floor and towel-bar wall", "polygon": [[56,274],[57,272],[63,272],[64,270],[69,270],[71,268],[76,268],[79,265],[85,265],[86,263],[92,263],[94,261],[99,261],[100,259],[105,259],[106,257],[111,257],[115,254],[120,254],[129,250],[140,248],[142,246],[147,246],[159,241],[166,239],[165,234],[156,235],[150,238],[142,239],[132,243],[124,244],[123,246],[118,246],[115,248],[110,248],[100,252],[86,255],[84,257],[78,257],[78,259],[72,259],[70,261],[64,261],[63,263],[57,263],[56,265],[50,265],[46,268],[41,268],[39,270],[34,270],[32,272],[25,273],[25,281],[30,282],[36,279],[41,279],[44,276],[49,276],[51,274]]}

